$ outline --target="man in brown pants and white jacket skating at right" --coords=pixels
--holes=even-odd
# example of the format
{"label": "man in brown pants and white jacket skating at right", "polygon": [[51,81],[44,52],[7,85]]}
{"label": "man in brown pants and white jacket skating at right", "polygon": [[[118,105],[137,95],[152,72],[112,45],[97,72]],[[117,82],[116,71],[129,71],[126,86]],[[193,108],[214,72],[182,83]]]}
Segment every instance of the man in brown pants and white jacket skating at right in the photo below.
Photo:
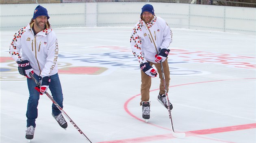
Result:
{"label": "man in brown pants and white jacket skating at right", "polygon": [[[158,94],[158,101],[170,110],[173,108],[169,100],[167,100],[167,93],[169,90],[170,71],[167,61],[169,55],[169,45],[172,42],[172,32],[166,21],[161,17],[156,17],[154,8],[151,4],[145,4],[141,8],[141,16],[135,28],[132,30],[130,37],[130,45],[132,53],[139,61],[141,68],[141,101],[142,118],[147,120],[150,118],[150,86],[151,78],[159,74],[160,91]],[[162,76],[161,67],[163,65]],[[155,66],[156,69],[152,66]],[[158,72],[158,74],[157,74]],[[165,87],[166,90],[165,91]]]}

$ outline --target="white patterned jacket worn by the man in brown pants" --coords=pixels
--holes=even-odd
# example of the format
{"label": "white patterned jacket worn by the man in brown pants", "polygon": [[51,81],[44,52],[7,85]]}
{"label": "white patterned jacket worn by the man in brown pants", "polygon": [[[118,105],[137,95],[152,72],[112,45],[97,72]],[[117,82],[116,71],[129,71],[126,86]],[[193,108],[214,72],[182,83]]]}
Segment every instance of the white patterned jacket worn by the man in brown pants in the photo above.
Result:
{"label": "white patterned jacket worn by the man in brown pants", "polygon": [[168,49],[171,42],[172,32],[170,27],[165,20],[156,16],[148,24],[142,20],[136,23],[130,38],[132,53],[140,64],[147,61],[156,63],[156,48],[159,53],[160,48]]}

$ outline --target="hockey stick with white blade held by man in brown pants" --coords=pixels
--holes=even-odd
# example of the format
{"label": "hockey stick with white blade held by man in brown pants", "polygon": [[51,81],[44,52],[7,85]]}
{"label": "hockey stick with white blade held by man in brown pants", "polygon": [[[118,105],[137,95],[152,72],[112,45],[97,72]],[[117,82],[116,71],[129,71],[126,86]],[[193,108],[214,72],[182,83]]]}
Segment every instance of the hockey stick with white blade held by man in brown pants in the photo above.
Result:
{"label": "hockey stick with white blade held by man in brown pants", "polygon": [[186,136],[186,134],[184,132],[178,133],[178,132],[174,131],[174,125],[173,125],[172,118],[171,118],[171,108],[170,108],[170,105],[169,105],[169,97],[168,97],[168,94],[167,94],[167,87],[166,87],[166,82],[165,82],[165,74],[164,74],[164,71],[163,71],[163,62],[162,62],[162,60],[160,61],[160,63],[161,63],[161,71],[162,71],[164,88],[165,88],[165,95],[166,95],[165,97],[166,97],[167,105],[168,105],[168,113],[169,113],[169,118],[171,120],[172,136],[182,139]]}

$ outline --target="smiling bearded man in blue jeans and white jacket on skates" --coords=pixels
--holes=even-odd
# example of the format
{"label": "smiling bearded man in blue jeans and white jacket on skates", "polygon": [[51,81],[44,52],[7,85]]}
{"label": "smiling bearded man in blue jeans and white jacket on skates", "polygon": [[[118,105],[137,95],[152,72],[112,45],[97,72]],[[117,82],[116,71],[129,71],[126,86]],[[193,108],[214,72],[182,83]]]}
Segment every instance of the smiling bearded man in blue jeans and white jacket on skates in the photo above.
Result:
{"label": "smiling bearded man in blue jeans and white jacket on skates", "polygon": [[[35,120],[38,116],[37,105],[40,95],[49,88],[53,99],[63,108],[63,93],[58,75],[59,44],[56,34],[48,21],[48,11],[43,6],[37,6],[30,23],[14,34],[9,53],[18,64],[18,71],[27,77],[29,90],[26,111],[26,139],[33,139]],[[20,50],[22,49],[22,54]],[[37,86],[30,77],[39,81]],[[61,111],[52,103],[52,116],[62,128],[67,128],[67,122]]]}

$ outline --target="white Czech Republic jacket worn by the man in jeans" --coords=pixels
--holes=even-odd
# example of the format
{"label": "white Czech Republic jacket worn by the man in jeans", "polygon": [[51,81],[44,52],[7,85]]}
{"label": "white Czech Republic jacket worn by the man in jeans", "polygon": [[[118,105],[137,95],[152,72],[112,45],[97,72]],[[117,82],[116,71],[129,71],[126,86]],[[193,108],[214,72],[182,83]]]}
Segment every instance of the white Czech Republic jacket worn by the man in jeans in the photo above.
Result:
{"label": "white Czech Republic jacket worn by the man in jeans", "polygon": [[58,72],[58,40],[48,25],[46,29],[34,35],[31,28],[33,24],[28,24],[15,33],[9,53],[16,62],[30,61],[35,74],[42,77],[52,76]]}

